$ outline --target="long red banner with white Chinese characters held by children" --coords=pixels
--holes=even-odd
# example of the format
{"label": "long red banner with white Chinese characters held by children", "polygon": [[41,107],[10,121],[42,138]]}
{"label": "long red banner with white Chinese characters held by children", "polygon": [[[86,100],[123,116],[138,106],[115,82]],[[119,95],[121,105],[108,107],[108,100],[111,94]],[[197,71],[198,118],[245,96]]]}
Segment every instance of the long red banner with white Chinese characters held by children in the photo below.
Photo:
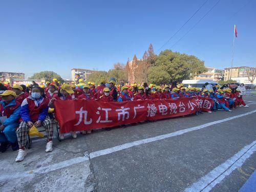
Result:
{"label": "long red banner with white Chinese characters held by children", "polygon": [[61,133],[171,118],[197,111],[210,111],[213,104],[212,99],[205,97],[124,102],[56,100],[54,103]]}

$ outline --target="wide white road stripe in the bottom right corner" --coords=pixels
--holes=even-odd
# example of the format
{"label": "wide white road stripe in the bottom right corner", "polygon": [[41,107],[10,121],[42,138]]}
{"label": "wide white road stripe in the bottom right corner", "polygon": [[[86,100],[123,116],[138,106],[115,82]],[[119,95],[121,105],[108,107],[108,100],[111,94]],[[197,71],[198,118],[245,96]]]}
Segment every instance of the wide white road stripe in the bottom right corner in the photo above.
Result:
{"label": "wide white road stripe in the bottom right corner", "polygon": [[215,185],[220,183],[226,176],[230,175],[233,170],[241,167],[246,159],[248,159],[256,151],[256,141],[251,144],[246,145],[235,154],[233,157],[229,158],[227,161],[211,170],[207,175],[202,177],[199,181],[185,189],[188,191],[210,191]]}

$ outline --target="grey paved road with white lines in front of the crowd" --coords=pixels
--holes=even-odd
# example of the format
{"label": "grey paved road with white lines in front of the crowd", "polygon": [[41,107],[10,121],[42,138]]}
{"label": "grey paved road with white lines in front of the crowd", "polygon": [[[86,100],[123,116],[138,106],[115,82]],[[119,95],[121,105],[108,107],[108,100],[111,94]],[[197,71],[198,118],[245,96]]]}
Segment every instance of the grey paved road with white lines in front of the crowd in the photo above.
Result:
{"label": "grey paved road with white lines in front of the crowd", "polygon": [[33,142],[23,162],[0,155],[0,191],[238,191],[256,168],[256,97],[249,108]]}

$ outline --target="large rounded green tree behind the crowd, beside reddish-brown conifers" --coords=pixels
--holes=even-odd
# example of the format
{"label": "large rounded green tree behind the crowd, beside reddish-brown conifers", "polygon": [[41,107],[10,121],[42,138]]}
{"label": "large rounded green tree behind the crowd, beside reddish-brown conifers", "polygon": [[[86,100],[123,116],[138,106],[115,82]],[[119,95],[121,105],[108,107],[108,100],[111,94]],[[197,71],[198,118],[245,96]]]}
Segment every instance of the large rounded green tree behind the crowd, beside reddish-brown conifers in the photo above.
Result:
{"label": "large rounded green tree behind the crowd, beside reddish-brown conifers", "polygon": [[[181,82],[184,79],[191,79],[206,71],[204,61],[196,56],[180,54],[171,50],[162,51],[157,57],[155,66],[151,68],[148,77],[152,83]],[[156,74],[158,76],[164,75],[164,77],[155,77]]]}

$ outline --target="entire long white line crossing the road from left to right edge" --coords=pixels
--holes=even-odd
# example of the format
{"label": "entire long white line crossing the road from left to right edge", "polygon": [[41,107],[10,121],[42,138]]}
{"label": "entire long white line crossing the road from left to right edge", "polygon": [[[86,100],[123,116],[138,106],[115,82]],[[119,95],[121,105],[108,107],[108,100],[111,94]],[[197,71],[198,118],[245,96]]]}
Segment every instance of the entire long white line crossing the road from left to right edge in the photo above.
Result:
{"label": "entire long white line crossing the road from left to right edge", "polygon": [[[133,146],[140,145],[140,144],[150,143],[150,142],[154,142],[154,141],[158,141],[158,140],[162,140],[162,139],[182,135],[184,133],[188,133],[188,132],[191,132],[191,131],[201,130],[205,127],[208,127],[208,126],[211,126],[211,125],[214,125],[214,124],[218,124],[218,123],[222,123],[222,122],[226,122],[226,121],[229,121],[229,120],[232,120],[232,119],[244,117],[246,115],[250,115],[250,114],[253,114],[255,112],[256,112],[256,110],[253,110],[253,111],[248,112],[248,113],[244,113],[244,114],[241,114],[241,115],[229,117],[229,118],[226,118],[226,119],[221,119],[221,120],[218,120],[218,121],[205,123],[205,124],[195,126],[195,127],[190,127],[188,129],[180,130],[180,131],[177,131],[177,132],[164,134],[164,135],[160,135],[160,136],[156,136],[156,137],[151,137],[151,138],[147,138],[147,139],[142,139],[142,140],[138,140],[138,141],[133,141],[133,142],[130,142],[130,143],[124,143],[124,144],[117,145],[117,146],[114,146],[114,147],[106,148],[105,150],[92,152],[89,155],[90,155],[90,158],[93,159],[95,157],[99,157],[99,156],[102,156],[102,155],[108,155],[108,154],[111,154],[111,153],[114,153],[114,152],[117,152],[117,151],[124,150],[126,148],[130,148],[130,147],[133,147]],[[52,172],[53,170],[57,170],[57,169],[60,169],[60,168],[63,168],[63,167],[71,166],[73,164],[77,164],[77,163],[88,161],[88,160],[89,160],[89,158],[86,155],[86,156],[83,156],[83,157],[76,157],[76,158],[69,159],[69,160],[66,160],[66,161],[61,161],[59,163],[50,164],[50,165],[45,166],[45,167],[39,167],[39,168],[31,170],[30,172],[18,172],[18,173],[16,172],[16,173],[13,173],[13,174],[5,174],[5,175],[0,174],[0,182],[11,181],[12,179],[17,179],[17,178],[20,178],[20,177],[28,177],[28,176],[31,176],[31,175],[34,175],[34,174],[48,173],[48,172]]]}

